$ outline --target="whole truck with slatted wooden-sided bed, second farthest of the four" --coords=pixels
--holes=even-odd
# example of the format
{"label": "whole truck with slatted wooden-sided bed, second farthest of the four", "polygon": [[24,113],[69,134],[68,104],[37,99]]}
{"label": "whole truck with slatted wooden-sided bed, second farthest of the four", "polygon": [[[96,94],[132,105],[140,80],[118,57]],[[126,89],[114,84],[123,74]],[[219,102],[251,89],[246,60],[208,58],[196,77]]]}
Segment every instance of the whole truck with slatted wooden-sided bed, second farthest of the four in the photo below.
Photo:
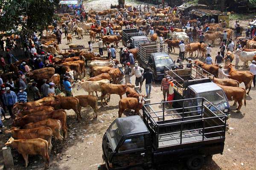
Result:
{"label": "whole truck with slatted wooden-sided bed, second farthest of the four", "polygon": [[175,68],[175,61],[169,56],[168,48],[159,42],[137,44],[137,59],[143,68],[151,68],[155,80],[162,80],[164,67]]}

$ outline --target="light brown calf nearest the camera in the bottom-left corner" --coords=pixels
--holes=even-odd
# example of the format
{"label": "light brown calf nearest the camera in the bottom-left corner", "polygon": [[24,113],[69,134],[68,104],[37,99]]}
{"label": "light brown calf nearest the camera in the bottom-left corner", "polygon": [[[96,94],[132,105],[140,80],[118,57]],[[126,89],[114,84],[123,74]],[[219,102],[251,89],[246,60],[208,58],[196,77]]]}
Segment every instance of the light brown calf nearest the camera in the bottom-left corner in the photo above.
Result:
{"label": "light brown calf nearest the camera in the bottom-left corner", "polygon": [[22,154],[25,160],[25,167],[29,163],[29,155],[41,155],[45,161],[45,168],[49,167],[48,142],[44,139],[19,139],[14,140],[12,137],[5,143],[5,146],[12,146]]}

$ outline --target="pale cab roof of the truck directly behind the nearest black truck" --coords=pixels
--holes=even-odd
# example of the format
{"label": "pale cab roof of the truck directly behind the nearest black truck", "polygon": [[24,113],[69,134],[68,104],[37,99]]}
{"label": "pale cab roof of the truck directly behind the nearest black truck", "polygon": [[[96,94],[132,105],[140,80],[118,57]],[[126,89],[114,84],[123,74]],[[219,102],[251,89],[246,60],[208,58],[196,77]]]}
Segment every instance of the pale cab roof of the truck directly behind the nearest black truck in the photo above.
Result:
{"label": "pale cab roof of the truck directly behind the nearest black truck", "polygon": [[221,90],[221,88],[218,85],[216,85],[214,82],[206,82],[206,83],[200,83],[196,85],[189,85],[189,88],[191,88],[196,93],[204,93],[209,91]]}

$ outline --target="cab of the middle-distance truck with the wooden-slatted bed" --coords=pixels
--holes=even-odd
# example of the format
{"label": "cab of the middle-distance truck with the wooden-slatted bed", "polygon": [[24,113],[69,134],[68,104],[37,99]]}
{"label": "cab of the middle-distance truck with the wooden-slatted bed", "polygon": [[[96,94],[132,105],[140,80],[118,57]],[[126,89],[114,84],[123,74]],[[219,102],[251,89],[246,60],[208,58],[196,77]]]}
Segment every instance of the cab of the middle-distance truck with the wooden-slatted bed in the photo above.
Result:
{"label": "cab of the middle-distance truck with the wooden-slatted bed", "polygon": [[174,69],[175,62],[166,52],[158,52],[150,55],[148,66],[151,68],[154,79],[161,80],[164,77],[164,67]]}

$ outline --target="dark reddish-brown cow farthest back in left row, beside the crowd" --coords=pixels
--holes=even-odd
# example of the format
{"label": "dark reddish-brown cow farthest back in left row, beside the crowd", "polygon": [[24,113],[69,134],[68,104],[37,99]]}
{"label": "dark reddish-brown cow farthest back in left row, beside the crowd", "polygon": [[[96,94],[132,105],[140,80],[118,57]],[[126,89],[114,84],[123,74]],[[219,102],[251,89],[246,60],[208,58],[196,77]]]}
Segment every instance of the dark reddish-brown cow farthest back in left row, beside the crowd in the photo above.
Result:
{"label": "dark reddish-brown cow farthest back in left row, beside the crowd", "polygon": [[40,68],[27,73],[27,77],[30,79],[49,79],[55,74],[54,68]]}

